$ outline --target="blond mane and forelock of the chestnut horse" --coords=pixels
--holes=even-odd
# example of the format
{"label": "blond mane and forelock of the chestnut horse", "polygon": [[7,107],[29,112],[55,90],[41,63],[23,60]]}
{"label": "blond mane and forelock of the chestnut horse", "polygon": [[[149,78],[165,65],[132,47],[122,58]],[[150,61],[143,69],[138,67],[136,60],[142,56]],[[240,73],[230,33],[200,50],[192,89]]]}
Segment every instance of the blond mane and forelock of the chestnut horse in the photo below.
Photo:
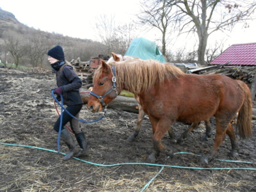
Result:
{"label": "blond mane and forelock of the chestnut horse", "polygon": [[[115,65],[116,68],[117,86],[125,85],[125,90],[137,95],[141,90],[147,92],[153,88],[156,82],[161,84],[166,78],[173,79],[184,75],[180,68],[168,63],[159,63],[155,60],[129,60],[108,63],[109,71],[111,65]],[[102,67],[95,71],[93,81],[99,79],[100,74],[102,74]]]}

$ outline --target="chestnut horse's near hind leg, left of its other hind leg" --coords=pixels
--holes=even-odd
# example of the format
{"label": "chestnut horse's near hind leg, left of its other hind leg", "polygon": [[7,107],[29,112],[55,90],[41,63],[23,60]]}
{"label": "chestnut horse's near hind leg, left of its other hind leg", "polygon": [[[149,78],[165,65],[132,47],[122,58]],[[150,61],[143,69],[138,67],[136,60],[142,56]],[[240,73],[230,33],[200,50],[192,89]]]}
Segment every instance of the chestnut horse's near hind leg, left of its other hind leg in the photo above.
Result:
{"label": "chestnut horse's near hind leg, left of its other hind leg", "polygon": [[206,156],[201,158],[201,163],[207,164],[208,161],[211,161],[214,154],[216,154],[218,147],[220,147],[221,143],[225,140],[226,132],[230,121],[228,121],[227,118],[225,119],[225,116],[221,117],[221,119],[216,117],[216,136],[213,148],[208,154],[206,154]]}

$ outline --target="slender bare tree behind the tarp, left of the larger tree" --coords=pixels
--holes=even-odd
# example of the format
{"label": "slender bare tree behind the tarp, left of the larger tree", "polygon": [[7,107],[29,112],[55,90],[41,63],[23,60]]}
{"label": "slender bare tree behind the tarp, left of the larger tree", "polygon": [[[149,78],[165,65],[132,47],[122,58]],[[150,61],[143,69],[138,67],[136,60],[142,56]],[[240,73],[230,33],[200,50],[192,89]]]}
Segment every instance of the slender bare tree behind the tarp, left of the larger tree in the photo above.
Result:
{"label": "slender bare tree behind the tarp, left of the larger tree", "polygon": [[[167,28],[173,21],[172,6],[167,5],[167,0],[143,1],[141,3],[141,13],[137,15],[140,24],[157,28],[162,35],[162,53],[166,56],[166,33]],[[170,32],[170,31],[169,31]]]}

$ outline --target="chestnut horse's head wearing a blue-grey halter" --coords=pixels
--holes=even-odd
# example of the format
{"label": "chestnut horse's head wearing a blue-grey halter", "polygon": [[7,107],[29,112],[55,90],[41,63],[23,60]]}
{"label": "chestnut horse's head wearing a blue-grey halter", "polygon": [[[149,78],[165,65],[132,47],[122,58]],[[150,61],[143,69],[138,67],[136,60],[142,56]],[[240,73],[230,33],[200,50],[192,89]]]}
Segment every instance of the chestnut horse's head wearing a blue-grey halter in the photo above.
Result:
{"label": "chestnut horse's head wearing a blue-grey halter", "polygon": [[102,65],[94,73],[93,89],[87,104],[87,108],[93,113],[101,111],[120,93],[115,74],[115,65],[109,65],[102,60]]}

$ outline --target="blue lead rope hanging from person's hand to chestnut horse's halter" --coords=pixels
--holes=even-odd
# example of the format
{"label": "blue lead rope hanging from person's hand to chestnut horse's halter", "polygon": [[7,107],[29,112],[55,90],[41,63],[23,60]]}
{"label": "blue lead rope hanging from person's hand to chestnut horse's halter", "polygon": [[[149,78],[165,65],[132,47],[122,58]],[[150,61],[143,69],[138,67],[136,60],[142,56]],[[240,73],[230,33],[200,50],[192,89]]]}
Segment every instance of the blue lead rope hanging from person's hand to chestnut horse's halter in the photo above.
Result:
{"label": "blue lead rope hanging from person's hand to chestnut horse's halter", "polygon": [[60,133],[61,133],[61,127],[62,127],[62,119],[63,119],[62,113],[63,113],[63,111],[66,111],[66,112],[68,113],[68,115],[72,116],[72,118],[75,118],[76,120],[79,120],[80,122],[84,122],[84,123],[94,123],[94,122],[97,122],[97,121],[99,121],[99,120],[102,120],[102,118],[104,118],[104,117],[106,116],[107,110],[106,110],[106,108],[105,108],[103,116],[100,117],[100,118],[98,118],[97,120],[93,120],[93,121],[81,120],[81,119],[76,118],[76,116],[72,115],[71,113],[69,113],[69,111],[68,111],[66,108],[64,108],[62,95],[60,95],[60,97],[61,97],[61,103],[60,103],[60,102],[58,101],[58,99],[55,97],[55,95],[54,95],[53,92],[54,92],[54,90],[51,91],[52,97],[53,97],[54,100],[56,100],[56,102],[58,102],[58,104],[61,106],[60,128],[59,128],[58,140],[57,140],[57,142],[58,142],[58,152],[60,152]]}

